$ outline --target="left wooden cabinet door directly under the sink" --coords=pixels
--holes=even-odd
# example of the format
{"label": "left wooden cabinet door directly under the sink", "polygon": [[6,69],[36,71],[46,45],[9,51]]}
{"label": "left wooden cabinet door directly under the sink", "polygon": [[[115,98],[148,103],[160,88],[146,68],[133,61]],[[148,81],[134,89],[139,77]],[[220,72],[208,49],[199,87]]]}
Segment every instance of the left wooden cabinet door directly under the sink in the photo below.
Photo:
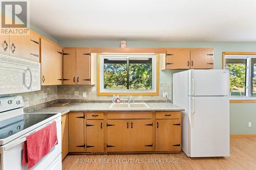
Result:
{"label": "left wooden cabinet door directly under the sink", "polygon": [[107,151],[130,151],[130,120],[108,120]]}

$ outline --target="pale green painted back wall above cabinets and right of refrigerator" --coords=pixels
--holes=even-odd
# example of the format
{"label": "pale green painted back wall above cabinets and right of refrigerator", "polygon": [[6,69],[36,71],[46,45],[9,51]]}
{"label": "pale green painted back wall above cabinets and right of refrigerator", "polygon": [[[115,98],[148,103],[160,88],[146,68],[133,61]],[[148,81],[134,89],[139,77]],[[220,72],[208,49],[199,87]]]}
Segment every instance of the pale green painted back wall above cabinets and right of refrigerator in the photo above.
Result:
{"label": "pale green painted back wall above cabinets and right of refrigerator", "polygon": [[[119,47],[120,41],[58,41],[62,46]],[[214,68],[222,69],[222,52],[256,52],[256,42],[127,41],[127,47],[212,47]],[[178,70],[179,71],[179,70]],[[160,71],[160,82],[172,82],[177,70]],[[252,127],[248,127],[252,122]],[[256,134],[256,104],[230,104],[230,134]]]}

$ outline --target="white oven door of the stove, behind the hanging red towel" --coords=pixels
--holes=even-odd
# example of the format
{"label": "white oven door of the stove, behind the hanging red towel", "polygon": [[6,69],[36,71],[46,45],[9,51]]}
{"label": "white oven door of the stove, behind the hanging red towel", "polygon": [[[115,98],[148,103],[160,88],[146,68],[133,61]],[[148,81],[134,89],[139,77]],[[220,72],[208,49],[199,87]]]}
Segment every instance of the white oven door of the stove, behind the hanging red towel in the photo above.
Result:
{"label": "white oven door of the stove, behind the hanging red towel", "polygon": [[[47,154],[44,158],[42,158],[35,166],[31,169],[51,169],[51,167],[58,167],[55,168],[56,170],[61,169],[61,117],[58,117],[52,121],[56,121],[57,126],[57,138],[58,144],[52,148],[51,152]],[[52,121],[50,123],[52,123]],[[34,133],[35,131],[44,128],[49,123],[42,125],[35,129],[33,132],[28,134]],[[19,139],[15,139],[5,145],[0,147],[1,151],[1,169],[3,170],[26,170],[28,169],[28,164],[22,165],[22,156],[23,156],[23,144],[26,141],[26,136]],[[60,159],[59,159],[60,157]]]}

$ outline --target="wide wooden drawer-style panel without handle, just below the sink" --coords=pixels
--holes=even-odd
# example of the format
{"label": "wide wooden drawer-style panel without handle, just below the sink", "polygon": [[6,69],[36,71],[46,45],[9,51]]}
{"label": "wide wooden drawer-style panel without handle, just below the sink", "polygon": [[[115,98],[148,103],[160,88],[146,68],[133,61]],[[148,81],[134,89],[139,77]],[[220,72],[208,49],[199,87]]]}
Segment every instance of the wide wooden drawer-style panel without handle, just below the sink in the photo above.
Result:
{"label": "wide wooden drawer-style panel without handle, just below the sink", "polygon": [[108,112],[108,119],[152,118],[152,112]]}

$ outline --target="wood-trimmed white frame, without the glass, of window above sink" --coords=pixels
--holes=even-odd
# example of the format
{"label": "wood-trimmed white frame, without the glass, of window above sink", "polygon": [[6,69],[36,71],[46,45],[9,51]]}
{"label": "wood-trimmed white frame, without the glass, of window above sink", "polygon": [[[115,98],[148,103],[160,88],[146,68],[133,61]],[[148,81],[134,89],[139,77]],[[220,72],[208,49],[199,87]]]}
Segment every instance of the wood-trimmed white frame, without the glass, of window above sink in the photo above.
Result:
{"label": "wood-trimmed white frame, without the glass, of window above sink", "polygon": [[[104,89],[104,59],[152,58],[152,90]],[[159,54],[97,54],[97,95],[159,95]]]}

